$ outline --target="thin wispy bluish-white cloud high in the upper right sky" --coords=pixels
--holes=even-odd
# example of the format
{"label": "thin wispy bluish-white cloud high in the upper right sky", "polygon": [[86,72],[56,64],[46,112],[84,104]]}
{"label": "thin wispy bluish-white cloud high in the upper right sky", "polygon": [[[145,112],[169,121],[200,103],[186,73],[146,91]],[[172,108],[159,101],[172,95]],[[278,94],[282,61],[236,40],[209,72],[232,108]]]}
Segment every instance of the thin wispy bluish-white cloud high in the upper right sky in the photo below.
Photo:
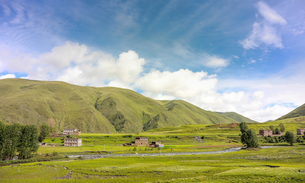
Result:
{"label": "thin wispy bluish-white cloud high in the upper right sky", "polygon": [[253,23],[249,36],[239,43],[244,49],[255,49],[261,45],[284,48],[278,26],[287,24],[286,20],[262,1],[257,4],[257,8],[263,20]]}

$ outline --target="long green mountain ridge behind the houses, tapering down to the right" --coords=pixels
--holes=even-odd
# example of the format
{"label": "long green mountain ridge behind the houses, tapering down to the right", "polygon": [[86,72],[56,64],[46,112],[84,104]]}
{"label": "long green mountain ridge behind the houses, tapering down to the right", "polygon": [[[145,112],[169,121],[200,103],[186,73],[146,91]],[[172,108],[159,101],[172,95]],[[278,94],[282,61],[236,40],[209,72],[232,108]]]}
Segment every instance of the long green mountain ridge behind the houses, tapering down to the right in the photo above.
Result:
{"label": "long green mountain ridge behind the houses, tapering down to the right", "polygon": [[158,101],[129,89],[26,79],[0,80],[0,120],[37,126],[55,120],[57,131],[77,128],[89,133],[238,123],[182,100]]}

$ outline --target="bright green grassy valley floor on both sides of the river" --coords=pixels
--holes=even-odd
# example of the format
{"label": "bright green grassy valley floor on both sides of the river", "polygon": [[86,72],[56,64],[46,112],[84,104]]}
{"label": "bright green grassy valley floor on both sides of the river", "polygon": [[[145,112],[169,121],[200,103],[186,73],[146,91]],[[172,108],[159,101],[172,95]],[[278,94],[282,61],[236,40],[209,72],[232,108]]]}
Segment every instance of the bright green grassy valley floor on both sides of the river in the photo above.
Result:
{"label": "bright green grassy valley floor on both sides of the river", "polygon": [[[296,134],[305,127],[299,118],[248,124],[255,130],[268,129],[283,123],[286,131]],[[134,137],[145,136],[149,141],[161,141],[160,150],[149,147],[123,146]],[[201,141],[194,137],[201,137]],[[75,136],[76,137],[76,136]],[[0,166],[1,182],[304,182],[305,144],[288,146],[286,141],[270,143],[259,137],[261,146],[272,148],[241,149],[232,153],[210,155],[172,155],[163,153],[215,151],[242,146],[239,126],[184,125],[153,129],[139,134],[86,134],[82,133],[83,145],[64,147],[64,137],[48,137],[36,156],[52,154],[64,157],[73,154],[122,154],[121,157],[82,160],[61,158],[53,161],[10,164]],[[303,139],[303,136],[298,136]],[[141,156],[155,153],[156,156]],[[124,154],[136,154],[124,156]],[[138,155],[137,155],[138,154]],[[5,163],[5,162],[2,162]],[[0,164],[4,165],[4,164]]]}

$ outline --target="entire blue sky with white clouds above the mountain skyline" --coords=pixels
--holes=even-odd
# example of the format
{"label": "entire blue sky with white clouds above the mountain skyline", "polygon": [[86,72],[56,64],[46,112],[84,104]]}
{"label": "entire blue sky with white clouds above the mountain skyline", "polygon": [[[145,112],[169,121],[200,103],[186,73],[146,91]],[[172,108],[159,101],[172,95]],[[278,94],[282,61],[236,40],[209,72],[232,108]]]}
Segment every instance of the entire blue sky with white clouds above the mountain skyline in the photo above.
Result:
{"label": "entire blue sky with white clouds above the mountain skyline", "polygon": [[263,122],[305,103],[304,1],[0,1],[0,79],[116,86]]}

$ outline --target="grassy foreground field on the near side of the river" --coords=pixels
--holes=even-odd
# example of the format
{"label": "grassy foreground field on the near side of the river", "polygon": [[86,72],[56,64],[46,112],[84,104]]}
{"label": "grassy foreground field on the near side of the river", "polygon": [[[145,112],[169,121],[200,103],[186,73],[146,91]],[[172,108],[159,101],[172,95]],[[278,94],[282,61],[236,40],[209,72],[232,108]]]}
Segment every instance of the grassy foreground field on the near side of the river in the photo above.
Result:
{"label": "grassy foreground field on the near side of the river", "polygon": [[0,167],[1,182],[304,182],[305,147]]}

